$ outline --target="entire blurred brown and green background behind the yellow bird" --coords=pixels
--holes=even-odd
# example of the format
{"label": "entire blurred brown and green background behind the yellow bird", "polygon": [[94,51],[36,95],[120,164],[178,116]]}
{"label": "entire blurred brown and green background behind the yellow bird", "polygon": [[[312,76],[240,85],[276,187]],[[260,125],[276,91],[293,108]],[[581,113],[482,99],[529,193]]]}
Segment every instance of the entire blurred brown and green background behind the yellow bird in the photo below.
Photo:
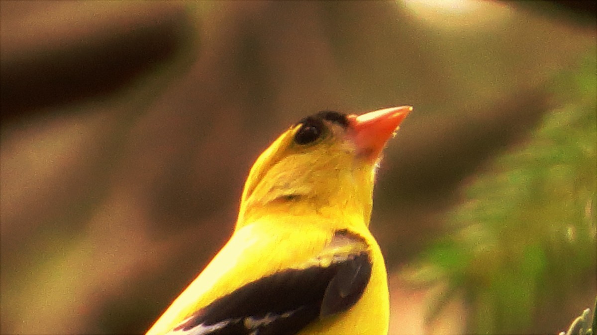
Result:
{"label": "entire blurred brown and green background behind the yellow bird", "polygon": [[[556,333],[597,294],[593,2],[0,2],[0,333],[143,333],[319,110],[378,172],[390,334]],[[275,250],[272,250],[275,252]]]}

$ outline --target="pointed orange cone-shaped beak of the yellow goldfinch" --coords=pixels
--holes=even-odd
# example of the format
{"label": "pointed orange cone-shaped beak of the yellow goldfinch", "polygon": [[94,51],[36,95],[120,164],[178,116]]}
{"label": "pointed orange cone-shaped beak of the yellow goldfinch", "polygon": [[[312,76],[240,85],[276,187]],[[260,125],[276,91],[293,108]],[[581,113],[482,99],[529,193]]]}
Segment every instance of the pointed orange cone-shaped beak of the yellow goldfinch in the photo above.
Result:
{"label": "pointed orange cone-shaped beak of the yellow goldfinch", "polygon": [[413,107],[401,106],[371,111],[359,116],[350,115],[350,128],[358,155],[370,161],[377,160],[387,140],[412,110]]}

